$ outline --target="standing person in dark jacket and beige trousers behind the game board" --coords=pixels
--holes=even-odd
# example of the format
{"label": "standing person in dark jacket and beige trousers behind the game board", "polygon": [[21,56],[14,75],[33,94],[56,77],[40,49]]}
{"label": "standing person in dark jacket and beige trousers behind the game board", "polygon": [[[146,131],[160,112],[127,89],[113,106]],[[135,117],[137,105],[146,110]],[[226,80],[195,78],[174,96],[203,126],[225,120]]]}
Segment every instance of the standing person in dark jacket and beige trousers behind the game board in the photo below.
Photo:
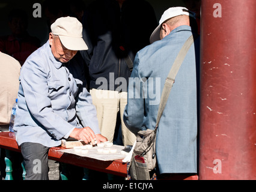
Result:
{"label": "standing person in dark jacket and beige trousers behind the game board", "polygon": [[89,68],[100,131],[112,142],[120,118],[121,145],[133,145],[135,135],[123,123],[127,83],[136,52],[150,44],[157,26],[153,7],[144,0],[97,0],[88,6],[84,19],[89,49],[81,54]]}

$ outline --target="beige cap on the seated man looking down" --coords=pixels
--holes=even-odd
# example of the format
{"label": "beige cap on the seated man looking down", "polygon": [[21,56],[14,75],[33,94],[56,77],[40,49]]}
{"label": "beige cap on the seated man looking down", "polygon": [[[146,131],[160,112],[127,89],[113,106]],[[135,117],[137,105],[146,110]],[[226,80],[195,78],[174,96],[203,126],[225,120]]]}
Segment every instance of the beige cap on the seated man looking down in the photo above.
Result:
{"label": "beige cap on the seated man looking down", "polygon": [[50,26],[52,33],[59,36],[63,46],[69,50],[87,50],[82,38],[82,23],[75,17],[60,17]]}

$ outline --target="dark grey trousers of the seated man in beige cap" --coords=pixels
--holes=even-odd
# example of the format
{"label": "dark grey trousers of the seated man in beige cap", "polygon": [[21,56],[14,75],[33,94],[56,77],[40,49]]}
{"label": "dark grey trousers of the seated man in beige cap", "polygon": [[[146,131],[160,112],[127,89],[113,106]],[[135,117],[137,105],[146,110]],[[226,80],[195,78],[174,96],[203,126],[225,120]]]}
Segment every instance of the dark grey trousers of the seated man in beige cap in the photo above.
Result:
{"label": "dark grey trousers of the seated man in beige cap", "polygon": [[25,180],[48,180],[49,148],[39,143],[22,143],[20,148],[25,161]]}

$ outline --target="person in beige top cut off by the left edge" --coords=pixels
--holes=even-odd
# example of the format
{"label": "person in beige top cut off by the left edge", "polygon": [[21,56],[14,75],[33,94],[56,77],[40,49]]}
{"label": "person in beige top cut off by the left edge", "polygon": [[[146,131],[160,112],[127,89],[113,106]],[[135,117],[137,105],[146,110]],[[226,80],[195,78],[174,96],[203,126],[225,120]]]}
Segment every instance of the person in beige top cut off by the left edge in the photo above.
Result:
{"label": "person in beige top cut off by the left edge", "polygon": [[[10,55],[0,52],[0,131],[8,131],[11,107],[15,103],[19,89],[20,63]],[[13,134],[13,133],[10,133]],[[19,152],[0,148],[0,180],[5,178],[7,157],[13,163],[13,179],[22,180],[22,155]]]}

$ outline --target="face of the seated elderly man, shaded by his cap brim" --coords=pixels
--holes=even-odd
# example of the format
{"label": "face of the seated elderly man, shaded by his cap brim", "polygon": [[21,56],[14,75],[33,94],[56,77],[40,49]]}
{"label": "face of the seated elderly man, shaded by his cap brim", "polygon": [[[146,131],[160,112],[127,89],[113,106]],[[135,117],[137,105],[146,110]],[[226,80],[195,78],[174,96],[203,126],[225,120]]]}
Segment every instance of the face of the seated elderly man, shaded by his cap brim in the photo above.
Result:
{"label": "face of the seated elderly man, shaded by his cap brim", "polygon": [[59,40],[58,35],[53,35],[52,33],[50,33],[49,35],[49,43],[55,59],[58,59],[60,62],[63,63],[69,62],[78,52],[77,50],[69,50],[64,47]]}

